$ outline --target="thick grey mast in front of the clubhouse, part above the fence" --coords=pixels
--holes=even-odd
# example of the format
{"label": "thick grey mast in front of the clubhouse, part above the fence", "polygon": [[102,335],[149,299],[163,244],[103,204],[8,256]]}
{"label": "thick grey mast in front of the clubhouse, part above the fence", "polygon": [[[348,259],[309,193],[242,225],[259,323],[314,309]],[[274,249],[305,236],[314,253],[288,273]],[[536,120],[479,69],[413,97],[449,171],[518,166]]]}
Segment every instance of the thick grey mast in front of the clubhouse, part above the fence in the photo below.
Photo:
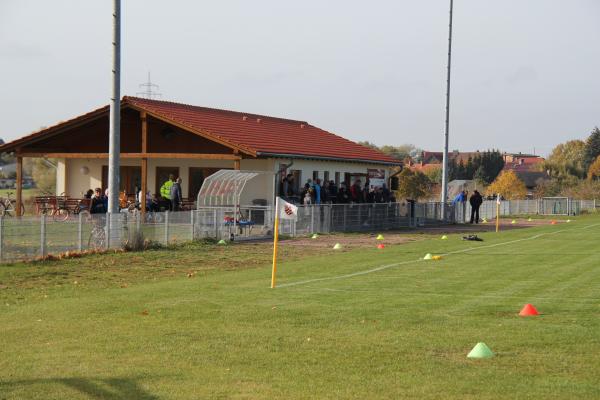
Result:
{"label": "thick grey mast in front of the clubhouse, part above the fence", "polygon": [[113,67],[108,145],[108,212],[119,212],[121,154],[121,0],[113,2]]}

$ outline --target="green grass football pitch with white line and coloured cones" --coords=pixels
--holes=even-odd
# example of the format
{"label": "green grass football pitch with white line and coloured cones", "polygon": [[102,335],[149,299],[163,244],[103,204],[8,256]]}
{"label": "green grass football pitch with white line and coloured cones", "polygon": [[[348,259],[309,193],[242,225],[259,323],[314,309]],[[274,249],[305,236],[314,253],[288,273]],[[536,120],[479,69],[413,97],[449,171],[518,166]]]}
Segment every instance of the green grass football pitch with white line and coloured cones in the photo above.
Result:
{"label": "green grass football pitch with white line and coloured cones", "polygon": [[600,218],[439,236],[0,267],[0,399],[600,398]]}

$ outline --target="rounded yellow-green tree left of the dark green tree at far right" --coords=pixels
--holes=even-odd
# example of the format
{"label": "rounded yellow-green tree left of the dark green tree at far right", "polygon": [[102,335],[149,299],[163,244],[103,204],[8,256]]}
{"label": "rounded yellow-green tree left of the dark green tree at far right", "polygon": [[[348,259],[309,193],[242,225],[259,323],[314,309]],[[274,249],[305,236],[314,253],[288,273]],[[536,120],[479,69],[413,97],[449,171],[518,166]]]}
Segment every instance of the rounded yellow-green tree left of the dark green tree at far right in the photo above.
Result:
{"label": "rounded yellow-green tree left of the dark green tree at far right", "polygon": [[586,173],[585,152],[586,144],[583,140],[569,140],[552,149],[542,168],[556,177],[572,175],[583,178]]}

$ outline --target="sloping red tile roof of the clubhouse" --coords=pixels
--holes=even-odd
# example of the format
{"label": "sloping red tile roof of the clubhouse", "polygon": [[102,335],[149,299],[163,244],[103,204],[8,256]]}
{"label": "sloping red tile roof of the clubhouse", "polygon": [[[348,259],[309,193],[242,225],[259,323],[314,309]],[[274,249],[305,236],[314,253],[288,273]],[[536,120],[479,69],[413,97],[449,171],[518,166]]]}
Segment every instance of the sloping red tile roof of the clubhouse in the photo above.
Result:
{"label": "sloping red tile roof of the clubhouse", "polygon": [[304,121],[124,97],[124,103],[257,155],[292,155],[401,164],[377,150]]}

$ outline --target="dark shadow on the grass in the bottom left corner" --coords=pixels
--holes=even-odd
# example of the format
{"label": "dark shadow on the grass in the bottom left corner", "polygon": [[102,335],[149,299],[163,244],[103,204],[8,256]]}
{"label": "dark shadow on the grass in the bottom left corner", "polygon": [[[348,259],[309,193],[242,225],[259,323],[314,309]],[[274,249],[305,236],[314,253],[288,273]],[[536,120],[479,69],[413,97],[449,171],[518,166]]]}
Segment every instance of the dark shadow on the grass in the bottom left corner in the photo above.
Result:
{"label": "dark shadow on the grass in the bottom left corner", "polygon": [[[37,385],[64,385],[75,389],[89,399],[102,400],[158,400],[158,396],[148,393],[141,387],[139,379],[136,378],[45,378],[27,379],[18,381],[0,382],[0,387],[10,390],[10,387],[18,387],[27,393],[25,386]],[[2,391],[4,391],[2,390]],[[35,390],[35,389],[34,389]],[[48,391],[48,388],[44,388]]]}

